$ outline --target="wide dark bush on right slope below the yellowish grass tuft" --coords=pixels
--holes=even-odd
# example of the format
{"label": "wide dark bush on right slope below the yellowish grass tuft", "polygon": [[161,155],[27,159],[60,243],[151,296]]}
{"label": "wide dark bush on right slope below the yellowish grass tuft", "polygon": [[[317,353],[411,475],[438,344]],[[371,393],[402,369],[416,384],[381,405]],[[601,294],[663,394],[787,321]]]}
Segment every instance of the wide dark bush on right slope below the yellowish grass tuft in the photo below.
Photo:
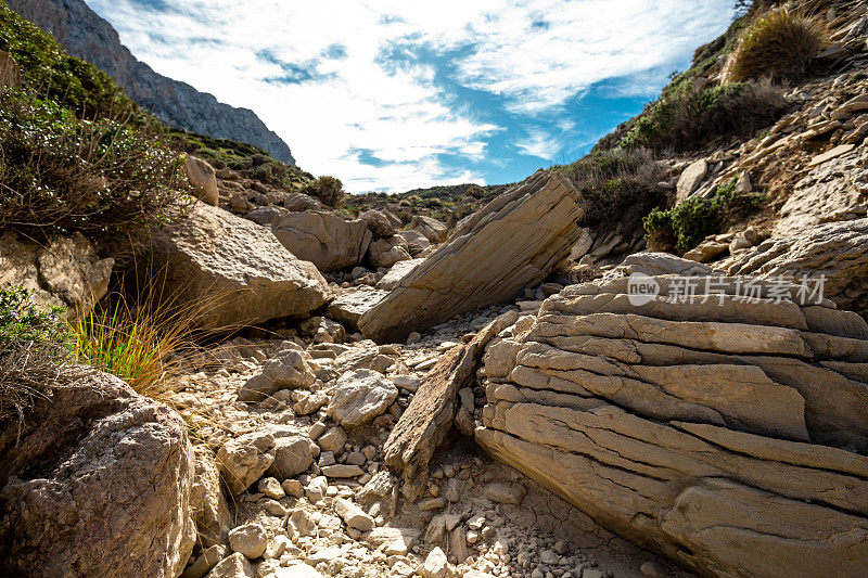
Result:
{"label": "wide dark bush on right slope below the yellowish grass tuft", "polygon": [[769,81],[664,92],[646,106],[620,146],[689,151],[725,136],[750,137],[778,118],[786,102]]}

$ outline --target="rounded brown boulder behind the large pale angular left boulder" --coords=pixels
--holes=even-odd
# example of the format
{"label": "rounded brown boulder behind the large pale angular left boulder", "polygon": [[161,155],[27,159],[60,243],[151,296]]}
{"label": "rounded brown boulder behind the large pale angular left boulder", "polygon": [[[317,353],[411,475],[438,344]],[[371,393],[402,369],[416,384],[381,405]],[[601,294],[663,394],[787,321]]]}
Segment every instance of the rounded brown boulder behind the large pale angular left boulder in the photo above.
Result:
{"label": "rounded brown boulder behind the large pale angular left boulder", "polygon": [[320,271],[360,264],[373,236],[362,219],[348,221],[321,210],[286,215],[273,226],[273,231],[286,249]]}

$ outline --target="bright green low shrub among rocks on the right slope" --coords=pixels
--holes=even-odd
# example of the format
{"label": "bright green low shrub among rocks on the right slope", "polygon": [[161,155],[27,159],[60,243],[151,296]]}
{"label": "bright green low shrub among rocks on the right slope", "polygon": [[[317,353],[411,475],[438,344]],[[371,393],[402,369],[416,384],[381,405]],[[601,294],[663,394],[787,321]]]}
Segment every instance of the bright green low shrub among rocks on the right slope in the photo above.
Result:
{"label": "bright green low shrub among rocks on the right slope", "polygon": [[649,245],[684,255],[724,223],[755,213],[765,202],[762,193],[739,193],[737,179],[717,188],[711,198],[694,195],[669,208],[652,210],[642,221]]}

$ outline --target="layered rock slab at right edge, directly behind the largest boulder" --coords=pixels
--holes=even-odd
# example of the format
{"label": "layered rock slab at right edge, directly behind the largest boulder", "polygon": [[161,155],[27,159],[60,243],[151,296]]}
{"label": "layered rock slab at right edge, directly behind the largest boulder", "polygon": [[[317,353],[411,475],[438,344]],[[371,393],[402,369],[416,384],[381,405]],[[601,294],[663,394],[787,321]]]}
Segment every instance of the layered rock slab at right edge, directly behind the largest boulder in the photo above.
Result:
{"label": "layered rock slab at right edge, directly behind the largest boulder", "polygon": [[775,236],[733,257],[738,275],[825,277],[824,295],[839,307],[868,313],[868,219],[830,222]]}

